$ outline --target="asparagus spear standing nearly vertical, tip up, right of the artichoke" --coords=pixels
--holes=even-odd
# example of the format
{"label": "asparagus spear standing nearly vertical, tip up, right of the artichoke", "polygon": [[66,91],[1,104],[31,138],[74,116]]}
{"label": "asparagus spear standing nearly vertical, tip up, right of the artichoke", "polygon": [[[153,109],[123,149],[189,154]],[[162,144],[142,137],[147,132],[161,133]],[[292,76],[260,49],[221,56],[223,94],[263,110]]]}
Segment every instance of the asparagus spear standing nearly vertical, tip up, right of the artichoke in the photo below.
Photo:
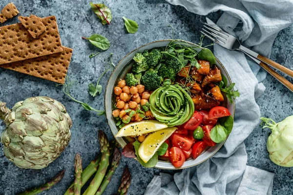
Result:
{"label": "asparagus spear standing nearly vertical, tip up, right of the artichoke", "polygon": [[74,195],[81,195],[81,188],[82,188],[82,173],[83,173],[83,165],[82,165],[82,157],[79,153],[75,155],[75,163],[74,163],[74,170],[75,170],[75,179],[74,179]]}

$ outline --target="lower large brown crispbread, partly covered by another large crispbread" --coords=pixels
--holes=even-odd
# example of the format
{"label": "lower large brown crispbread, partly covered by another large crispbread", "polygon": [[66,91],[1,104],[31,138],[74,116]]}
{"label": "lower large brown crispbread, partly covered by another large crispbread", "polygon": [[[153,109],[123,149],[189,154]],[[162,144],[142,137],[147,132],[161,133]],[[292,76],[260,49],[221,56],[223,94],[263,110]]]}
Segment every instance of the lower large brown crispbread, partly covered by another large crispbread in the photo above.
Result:
{"label": "lower large brown crispbread, partly covered by another large crispbread", "polygon": [[70,48],[63,47],[61,53],[3,64],[0,67],[63,84],[72,51]]}

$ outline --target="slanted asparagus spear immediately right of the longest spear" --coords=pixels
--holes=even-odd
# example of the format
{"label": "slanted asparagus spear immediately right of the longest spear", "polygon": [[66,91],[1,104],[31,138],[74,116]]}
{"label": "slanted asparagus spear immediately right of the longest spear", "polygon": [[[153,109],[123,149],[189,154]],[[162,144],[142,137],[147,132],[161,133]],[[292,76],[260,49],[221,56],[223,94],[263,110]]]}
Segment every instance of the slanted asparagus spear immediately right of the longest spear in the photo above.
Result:
{"label": "slanted asparagus spear immediately right of the longest spear", "polygon": [[109,169],[107,175],[105,176],[105,178],[104,178],[99,190],[97,191],[96,195],[102,195],[103,192],[105,191],[105,189],[106,189],[108,183],[110,182],[110,180],[111,180],[116,168],[118,167],[118,165],[120,163],[120,158],[121,158],[121,153],[117,148],[115,148],[112,163],[111,163],[111,168]]}

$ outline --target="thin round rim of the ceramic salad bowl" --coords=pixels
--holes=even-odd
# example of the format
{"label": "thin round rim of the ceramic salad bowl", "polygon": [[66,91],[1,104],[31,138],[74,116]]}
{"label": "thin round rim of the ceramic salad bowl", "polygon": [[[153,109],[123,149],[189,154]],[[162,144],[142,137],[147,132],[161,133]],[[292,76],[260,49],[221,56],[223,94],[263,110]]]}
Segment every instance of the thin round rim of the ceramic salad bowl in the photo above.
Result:
{"label": "thin round rim of the ceramic salad bowl", "polygon": [[[186,43],[188,43],[188,44],[193,44],[193,45],[196,45],[196,46],[198,46],[198,47],[201,47],[201,46],[199,46],[199,45],[196,44],[196,43],[192,43],[192,42],[190,42],[190,41],[183,40],[183,39],[161,39],[161,40],[155,40],[155,41],[152,41],[152,42],[146,43],[146,44],[144,44],[144,45],[142,45],[142,46],[140,46],[140,47],[137,47],[137,48],[135,48],[134,50],[130,51],[128,54],[126,54],[126,56],[124,56],[124,57],[118,62],[118,64],[115,66],[114,70],[112,71],[112,73],[111,73],[111,75],[110,75],[110,77],[109,77],[109,79],[108,79],[108,81],[107,81],[107,85],[106,85],[106,88],[105,88],[105,95],[104,95],[104,106],[105,106],[105,112],[106,112],[106,98],[105,98],[105,96],[106,96],[106,94],[107,94],[107,90],[108,90],[108,83],[109,83],[109,80],[110,80],[110,78],[112,77],[113,73],[115,72],[116,68],[121,64],[121,62],[122,62],[124,59],[126,59],[127,56],[129,56],[130,54],[132,54],[132,53],[135,52],[136,50],[138,50],[138,49],[140,49],[140,48],[142,48],[142,47],[145,47],[146,45],[153,44],[153,43],[156,43],[156,42],[162,42],[162,41],[183,41],[183,42],[186,42]],[[201,47],[201,48],[203,48],[203,47]],[[217,62],[222,66],[223,70],[225,71],[225,73],[226,73],[226,75],[227,75],[227,77],[228,77],[228,80],[230,81],[230,83],[232,83],[231,78],[230,78],[230,76],[229,76],[229,74],[228,74],[226,68],[224,67],[224,65],[223,65],[223,64],[219,61],[219,59],[217,59],[216,57],[215,57],[215,59],[216,59]],[[116,79],[117,79],[117,78],[116,78]],[[111,89],[111,90],[112,90],[112,89]],[[234,89],[232,89],[232,91],[234,91]],[[233,98],[233,103],[232,103],[232,104],[233,104],[233,113],[232,113],[231,116],[234,118],[234,115],[235,115],[235,98]],[[111,131],[111,128],[110,128],[110,125],[109,125],[109,120],[110,120],[110,119],[107,118],[107,115],[105,115],[105,116],[106,116],[106,120],[107,120],[108,127],[109,127],[109,129],[110,129],[110,131]],[[113,134],[112,131],[111,131],[111,134],[113,135],[114,139],[116,140],[115,135]],[[230,134],[229,134],[229,135],[226,137],[226,139],[221,143],[220,147],[219,147],[215,152],[213,152],[213,154],[212,154],[211,156],[209,156],[208,158],[206,158],[206,159],[204,159],[204,160],[202,160],[202,161],[200,161],[200,162],[198,162],[198,163],[196,163],[196,164],[194,164],[194,165],[190,165],[190,166],[188,166],[188,167],[179,167],[179,168],[162,168],[162,167],[156,167],[156,166],[155,166],[155,167],[152,167],[152,168],[164,169],[164,170],[180,170],[180,169],[187,169],[187,168],[190,168],[190,167],[194,167],[194,166],[196,166],[196,165],[199,165],[199,164],[205,162],[206,160],[208,160],[209,158],[211,158],[212,156],[214,156],[214,155],[215,155],[215,154],[216,154],[216,153],[222,148],[222,146],[225,144],[225,142],[226,142],[226,140],[228,139],[229,136],[230,136]],[[119,144],[119,146],[120,146],[121,148],[123,148],[122,145],[121,145],[118,141],[117,141],[117,143]],[[135,157],[134,159],[138,161],[137,157]],[[159,160],[159,161],[160,161],[160,160]],[[161,162],[164,162],[164,161],[161,161]]]}

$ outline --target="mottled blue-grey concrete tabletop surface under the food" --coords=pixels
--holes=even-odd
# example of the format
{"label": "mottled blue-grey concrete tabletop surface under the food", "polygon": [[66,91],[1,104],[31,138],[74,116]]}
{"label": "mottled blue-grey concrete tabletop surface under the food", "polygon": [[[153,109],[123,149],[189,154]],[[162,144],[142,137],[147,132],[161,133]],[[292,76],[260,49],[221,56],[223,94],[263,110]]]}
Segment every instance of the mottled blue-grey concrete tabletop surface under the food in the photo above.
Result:
{"label": "mottled blue-grey concrete tabletop surface under the food", "polygon": [[[11,0],[1,0],[0,8]],[[104,96],[92,98],[88,95],[87,85],[96,82],[105,69],[105,58],[114,53],[113,61],[118,63],[128,52],[136,47],[153,40],[172,38],[172,30],[168,24],[175,28],[175,38],[185,39],[198,43],[199,30],[202,27],[200,16],[188,13],[182,7],[168,4],[164,0],[105,0],[113,14],[111,25],[103,26],[94,13],[90,10],[88,0],[14,0],[20,14],[30,14],[39,17],[55,15],[59,25],[62,43],[66,47],[74,49],[68,76],[77,81],[72,89],[72,96],[89,103],[97,109],[104,109]],[[127,34],[123,16],[137,21],[139,30],[136,34]],[[213,13],[209,17],[217,20],[220,12]],[[18,22],[17,18],[1,24],[7,25]],[[111,47],[101,54],[101,57],[89,59],[90,53],[99,50],[83,40],[81,37],[89,37],[91,34],[101,34],[111,42]],[[275,40],[271,59],[293,68],[293,26],[281,31]],[[205,44],[209,40],[205,40]],[[100,84],[105,85],[110,73],[107,73]],[[288,77],[289,78],[289,77]],[[290,79],[290,78],[289,78]],[[292,78],[291,78],[291,81]],[[267,87],[265,94],[257,102],[261,113],[265,117],[272,117],[276,121],[293,114],[293,93],[283,87],[271,76],[264,81]],[[0,195],[14,195],[26,188],[32,188],[42,184],[59,170],[66,169],[61,183],[42,195],[62,195],[74,178],[74,155],[80,152],[85,168],[90,160],[99,153],[100,146],[97,140],[98,129],[103,129],[107,136],[112,135],[107,127],[105,116],[98,117],[93,112],[84,111],[76,102],[71,101],[62,92],[62,87],[56,84],[23,75],[10,70],[0,69],[0,100],[7,102],[9,107],[25,98],[34,96],[49,96],[61,101],[73,119],[71,128],[72,140],[63,154],[47,168],[42,170],[23,170],[13,165],[3,156],[0,146]],[[1,131],[4,129],[3,122]],[[247,138],[248,165],[275,173],[273,194],[292,194],[293,169],[283,168],[273,164],[266,151],[266,140],[269,130],[257,127]],[[120,185],[120,178],[125,166],[128,166],[132,175],[129,195],[142,195],[147,184],[159,169],[143,168],[134,159],[122,157],[121,164],[115,172],[111,184],[106,188],[105,195],[113,195]],[[175,171],[163,171],[175,173]]]}

